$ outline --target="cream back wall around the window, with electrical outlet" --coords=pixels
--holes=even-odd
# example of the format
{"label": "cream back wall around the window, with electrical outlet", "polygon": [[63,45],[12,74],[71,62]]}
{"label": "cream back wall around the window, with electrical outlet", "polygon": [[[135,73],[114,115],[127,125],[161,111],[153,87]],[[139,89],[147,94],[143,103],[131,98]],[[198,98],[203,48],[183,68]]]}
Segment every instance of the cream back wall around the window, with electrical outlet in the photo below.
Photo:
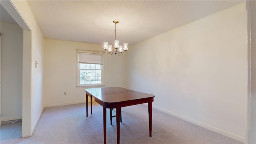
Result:
{"label": "cream back wall around the window, with electrical outlet", "polygon": [[[76,88],[76,49],[103,52],[97,44],[44,40],[44,106],[85,102],[85,87]],[[126,87],[125,55],[104,53],[105,86]],[[64,95],[67,92],[67,95]]]}

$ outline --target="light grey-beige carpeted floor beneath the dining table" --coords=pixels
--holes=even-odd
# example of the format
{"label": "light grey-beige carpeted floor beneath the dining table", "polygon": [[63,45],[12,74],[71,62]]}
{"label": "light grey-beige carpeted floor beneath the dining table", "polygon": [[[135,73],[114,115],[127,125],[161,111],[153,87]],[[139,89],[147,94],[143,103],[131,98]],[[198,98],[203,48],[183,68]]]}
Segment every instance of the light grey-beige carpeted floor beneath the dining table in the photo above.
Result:
{"label": "light grey-beige carpeted floor beneath the dining table", "polygon": [[[89,108],[90,111],[90,108]],[[116,143],[116,119],[110,125],[107,110],[107,143]],[[1,125],[1,144],[103,144],[102,106],[93,102],[86,118],[85,104],[45,108],[32,136],[21,138],[21,122]],[[148,107],[122,108],[120,144],[242,144],[216,132],[164,112],[152,110],[152,137],[148,132]]]}

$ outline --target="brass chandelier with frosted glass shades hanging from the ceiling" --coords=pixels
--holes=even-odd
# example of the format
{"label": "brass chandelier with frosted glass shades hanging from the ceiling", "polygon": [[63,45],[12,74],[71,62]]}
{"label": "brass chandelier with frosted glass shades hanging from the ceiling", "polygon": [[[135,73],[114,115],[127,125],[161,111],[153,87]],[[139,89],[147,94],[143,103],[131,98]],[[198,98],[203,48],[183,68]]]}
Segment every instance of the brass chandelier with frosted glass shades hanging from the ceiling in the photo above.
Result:
{"label": "brass chandelier with frosted glass shades hanging from the ceiling", "polygon": [[[113,23],[115,23],[115,33],[116,33],[116,24],[118,24],[119,22],[117,20],[114,20]],[[119,40],[114,41],[114,48],[115,48],[114,50],[112,50],[112,45],[108,45],[108,42],[104,42],[103,48],[107,54],[112,55],[114,53],[121,56],[121,54],[125,54],[126,51],[128,50],[127,48],[128,43],[124,43],[124,48],[123,46],[119,46],[118,43],[119,43]]]}

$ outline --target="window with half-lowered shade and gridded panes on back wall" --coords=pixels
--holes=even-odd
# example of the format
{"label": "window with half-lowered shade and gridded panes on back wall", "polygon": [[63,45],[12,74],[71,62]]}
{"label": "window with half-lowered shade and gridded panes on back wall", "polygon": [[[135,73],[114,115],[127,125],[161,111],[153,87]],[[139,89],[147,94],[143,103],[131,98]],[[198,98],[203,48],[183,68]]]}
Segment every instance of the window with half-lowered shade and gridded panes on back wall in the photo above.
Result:
{"label": "window with half-lowered shade and gridded panes on back wall", "polygon": [[103,75],[103,54],[78,52],[77,86],[104,85]]}

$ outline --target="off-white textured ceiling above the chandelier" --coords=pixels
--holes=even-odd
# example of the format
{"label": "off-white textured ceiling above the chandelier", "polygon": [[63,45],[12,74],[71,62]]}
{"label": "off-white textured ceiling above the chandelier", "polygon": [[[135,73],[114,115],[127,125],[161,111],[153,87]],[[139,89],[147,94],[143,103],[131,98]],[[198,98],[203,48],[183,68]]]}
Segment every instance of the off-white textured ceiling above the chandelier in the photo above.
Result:
{"label": "off-white textured ceiling above the chandelier", "polygon": [[[44,38],[129,45],[188,24],[244,1],[28,0]],[[128,45],[128,46],[129,46]]]}

